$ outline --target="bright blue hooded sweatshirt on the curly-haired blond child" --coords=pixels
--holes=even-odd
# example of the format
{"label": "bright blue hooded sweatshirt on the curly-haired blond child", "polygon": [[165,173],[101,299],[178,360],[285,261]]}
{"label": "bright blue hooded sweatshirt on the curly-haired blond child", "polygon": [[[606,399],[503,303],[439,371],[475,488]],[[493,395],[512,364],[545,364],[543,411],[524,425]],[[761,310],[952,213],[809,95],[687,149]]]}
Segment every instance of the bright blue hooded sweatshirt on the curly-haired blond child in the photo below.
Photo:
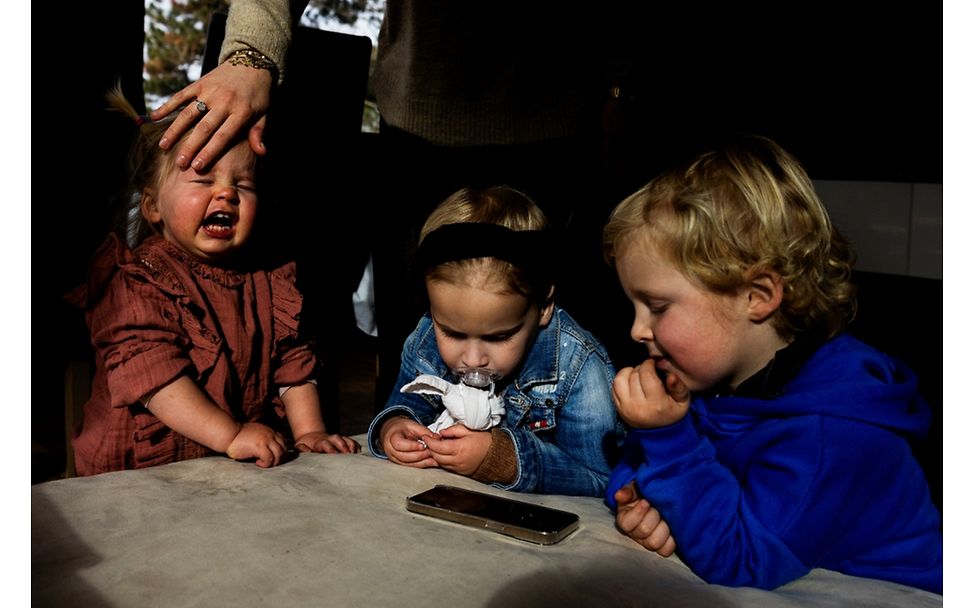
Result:
{"label": "bright blue hooded sweatshirt on the curly-haired blond child", "polygon": [[942,594],[940,513],[910,447],[930,424],[916,376],[840,335],[786,378],[631,431],[609,506],[635,480],[710,583],[773,589],[826,568]]}

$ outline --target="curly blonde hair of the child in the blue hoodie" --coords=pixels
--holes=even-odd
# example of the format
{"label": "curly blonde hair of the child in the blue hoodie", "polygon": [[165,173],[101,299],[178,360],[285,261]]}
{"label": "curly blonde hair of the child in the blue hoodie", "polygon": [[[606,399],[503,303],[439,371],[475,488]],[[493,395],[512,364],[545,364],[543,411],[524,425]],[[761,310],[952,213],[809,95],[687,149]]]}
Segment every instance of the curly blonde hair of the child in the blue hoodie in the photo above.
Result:
{"label": "curly blonde hair of the child in the blue hoodie", "polygon": [[623,200],[603,231],[610,265],[649,244],[690,280],[716,292],[743,289],[759,271],[783,279],[773,319],[779,335],[832,337],[855,315],[854,256],[801,164],[763,137],[707,152]]}

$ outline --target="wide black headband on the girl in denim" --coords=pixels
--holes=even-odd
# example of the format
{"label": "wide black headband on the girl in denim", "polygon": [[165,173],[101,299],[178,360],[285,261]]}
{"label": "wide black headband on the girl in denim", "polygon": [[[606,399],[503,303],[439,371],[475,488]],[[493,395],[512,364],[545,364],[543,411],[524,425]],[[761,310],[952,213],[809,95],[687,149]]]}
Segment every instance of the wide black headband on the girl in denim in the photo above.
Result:
{"label": "wide black headband on the girl in denim", "polygon": [[497,258],[525,270],[540,270],[547,266],[550,240],[550,235],[540,230],[511,230],[479,222],[446,224],[423,239],[419,268],[425,272],[446,262]]}

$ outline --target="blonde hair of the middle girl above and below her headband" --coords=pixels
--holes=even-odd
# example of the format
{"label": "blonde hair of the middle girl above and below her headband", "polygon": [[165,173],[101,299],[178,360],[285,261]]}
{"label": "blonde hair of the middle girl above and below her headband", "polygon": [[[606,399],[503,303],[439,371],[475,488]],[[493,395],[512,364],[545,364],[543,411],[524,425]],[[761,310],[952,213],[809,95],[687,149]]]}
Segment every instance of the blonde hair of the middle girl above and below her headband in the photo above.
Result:
{"label": "blonde hair of the middle girl above and below her headband", "polygon": [[[426,219],[419,235],[420,251],[430,233],[451,224],[494,224],[515,232],[548,229],[544,212],[523,192],[508,186],[463,188],[440,203]],[[497,257],[455,259],[426,268],[425,277],[452,284],[470,284],[476,277],[481,285],[500,285],[540,307],[548,301],[554,285],[549,264],[543,259],[535,259],[530,265]]]}

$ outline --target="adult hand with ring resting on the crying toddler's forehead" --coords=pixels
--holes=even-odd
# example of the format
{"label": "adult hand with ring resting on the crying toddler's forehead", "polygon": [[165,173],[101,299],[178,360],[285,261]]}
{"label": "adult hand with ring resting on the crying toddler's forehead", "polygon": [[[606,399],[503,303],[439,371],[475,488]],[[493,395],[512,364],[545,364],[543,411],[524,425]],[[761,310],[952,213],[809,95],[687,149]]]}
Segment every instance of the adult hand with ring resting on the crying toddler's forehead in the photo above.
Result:
{"label": "adult hand with ring resting on the crying toddler's forehead", "polygon": [[[163,135],[159,146],[169,150],[193,125],[196,129],[176,150],[176,165],[197,171],[209,167],[244,129],[255,154],[264,154],[264,123],[270,106],[274,74],[243,65],[222,63],[196,82],[174,94],[152,112],[159,120],[182,109]],[[206,105],[201,112],[196,102]]]}

